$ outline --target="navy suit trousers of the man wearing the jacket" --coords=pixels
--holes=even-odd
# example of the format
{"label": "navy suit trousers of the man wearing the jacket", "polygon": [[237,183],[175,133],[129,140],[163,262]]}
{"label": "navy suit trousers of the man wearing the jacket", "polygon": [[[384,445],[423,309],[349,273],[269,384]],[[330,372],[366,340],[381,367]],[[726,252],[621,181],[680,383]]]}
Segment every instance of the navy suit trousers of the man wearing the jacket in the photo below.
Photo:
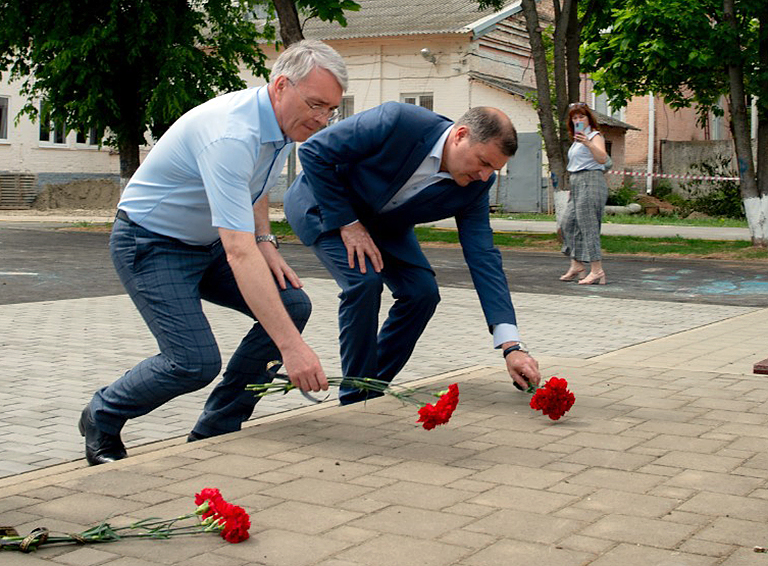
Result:
{"label": "navy suit trousers of the man wearing the jacket", "polygon": [[[349,267],[347,248],[338,230],[320,235],[312,250],[341,287],[339,346],[344,377],[392,381],[411,357],[440,302],[434,273],[383,251],[384,269],[376,273],[366,258],[366,273],[361,273],[359,267]],[[379,330],[384,285],[395,303]],[[339,390],[342,405],[379,396],[345,383]]]}

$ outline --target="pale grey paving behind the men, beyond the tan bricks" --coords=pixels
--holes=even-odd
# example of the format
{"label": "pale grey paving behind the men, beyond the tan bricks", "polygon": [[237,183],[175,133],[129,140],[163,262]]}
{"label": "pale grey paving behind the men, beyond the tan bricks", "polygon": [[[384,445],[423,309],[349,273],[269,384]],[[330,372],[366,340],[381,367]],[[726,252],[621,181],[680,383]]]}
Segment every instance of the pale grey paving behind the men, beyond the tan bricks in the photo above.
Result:
{"label": "pale grey paving behind the men, beyond the tan bricks", "polygon": [[[338,288],[326,279],[304,282],[313,301],[305,336],[326,373],[339,375]],[[401,381],[475,365],[502,367],[475,292],[443,288],[441,295],[435,318],[398,377]],[[537,358],[588,359],[758,310],[536,294],[516,294],[514,300],[523,338]],[[385,304],[382,316],[387,308]],[[249,319],[214,305],[206,305],[206,311],[226,360],[246,333]],[[746,348],[745,367],[754,363],[750,356],[759,351],[759,342],[756,337],[740,345]],[[76,423],[83,406],[97,389],[153,354],[156,345],[127,295],[116,295],[0,306],[0,349],[2,477],[82,458]],[[664,352],[666,357],[676,355]],[[123,429],[128,448],[185,436],[211,387],[130,421]],[[335,395],[328,402],[334,403]],[[257,405],[253,418],[309,404],[300,395],[268,397]]]}

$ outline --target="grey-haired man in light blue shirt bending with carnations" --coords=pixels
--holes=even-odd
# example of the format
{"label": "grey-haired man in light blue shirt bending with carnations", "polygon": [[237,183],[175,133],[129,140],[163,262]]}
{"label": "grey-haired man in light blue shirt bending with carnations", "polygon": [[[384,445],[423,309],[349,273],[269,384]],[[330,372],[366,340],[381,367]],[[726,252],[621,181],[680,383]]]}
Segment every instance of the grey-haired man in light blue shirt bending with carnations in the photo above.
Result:
{"label": "grey-haired man in light blue shirt bending with carnations", "polygon": [[[79,422],[91,465],[126,457],[128,419],[205,387],[221,355],[201,299],[251,317],[188,440],[239,430],[256,403],[248,383],[272,379],[280,360],[292,383],[328,382],[301,338],[311,304],[270,234],[268,191],[293,142],[327,124],[346,90],[336,51],[302,41],[284,51],[268,85],[190,110],[160,138],[125,188],[110,239],[120,280],[160,353],[97,391]],[[277,283],[277,284],[276,284]]]}

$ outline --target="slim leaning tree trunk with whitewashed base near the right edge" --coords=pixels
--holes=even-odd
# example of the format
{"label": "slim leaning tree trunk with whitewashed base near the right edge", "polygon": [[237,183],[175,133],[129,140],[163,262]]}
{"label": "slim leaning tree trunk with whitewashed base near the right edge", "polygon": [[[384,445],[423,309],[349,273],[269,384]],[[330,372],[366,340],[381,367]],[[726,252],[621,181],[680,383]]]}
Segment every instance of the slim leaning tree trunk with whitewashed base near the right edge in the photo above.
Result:
{"label": "slim leaning tree trunk with whitewashed base near the right edge", "polygon": [[[738,38],[738,24],[734,0],[723,1],[723,14],[726,25],[733,29]],[[738,41],[738,39],[737,39]],[[738,44],[734,48],[738,49]],[[768,244],[768,217],[766,199],[758,192],[755,163],[752,159],[752,140],[750,139],[747,119],[746,94],[744,91],[744,69],[740,61],[729,61],[728,83],[731,106],[731,132],[736,147],[736,159],[741,179],[741,198],[744,199],[744,211],[752,236],[752,245],[766,247]]]}

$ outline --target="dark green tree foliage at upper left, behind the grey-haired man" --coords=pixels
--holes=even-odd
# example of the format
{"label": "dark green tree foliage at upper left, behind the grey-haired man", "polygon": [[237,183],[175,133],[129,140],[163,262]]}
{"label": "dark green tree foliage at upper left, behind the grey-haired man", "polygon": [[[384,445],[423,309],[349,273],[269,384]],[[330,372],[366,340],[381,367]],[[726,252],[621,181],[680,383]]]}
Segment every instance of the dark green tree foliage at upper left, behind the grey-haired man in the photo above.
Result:
{"label": "dark green tree foliage at upper left, behind the grey-haired man", "polygon": [[[296,4],[342,23],[356,6]],[[50,119],[109,132],[124,179],[147,131],[157,138],[187,110],[243,88],[241,67],[266,78],[259,44],[274,40],[268,0],[0,0],[0,72],[21,81],[22,113],[36,118],[44,99]]]}

